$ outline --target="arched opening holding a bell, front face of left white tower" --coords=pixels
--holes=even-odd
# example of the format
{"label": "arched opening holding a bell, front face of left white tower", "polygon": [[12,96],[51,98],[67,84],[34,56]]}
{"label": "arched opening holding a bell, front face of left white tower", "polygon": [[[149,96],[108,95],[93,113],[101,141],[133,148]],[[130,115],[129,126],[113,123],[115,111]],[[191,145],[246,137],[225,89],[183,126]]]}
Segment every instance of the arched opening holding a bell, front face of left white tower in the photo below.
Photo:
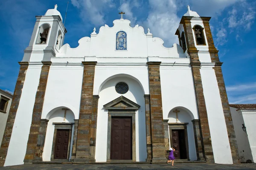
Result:
{"label": "arched opening holding a bell, front face of left white tower", "polygon": [[48,23],[42,24],[39,27],[36,44],[47,44],[47,39],[49,37],[49,31],[50,31],[50,25]]}

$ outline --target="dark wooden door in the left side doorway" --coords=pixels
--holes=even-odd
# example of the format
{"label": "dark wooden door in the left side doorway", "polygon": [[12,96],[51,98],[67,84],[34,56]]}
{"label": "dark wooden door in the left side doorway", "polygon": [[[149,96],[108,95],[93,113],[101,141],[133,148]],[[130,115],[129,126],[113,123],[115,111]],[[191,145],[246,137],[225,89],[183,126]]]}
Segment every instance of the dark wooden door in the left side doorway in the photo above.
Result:
{"label": "dark wooden door in the left side doorway", "polygon": [[69,129],[57,129],[54,159],[67,159]]}

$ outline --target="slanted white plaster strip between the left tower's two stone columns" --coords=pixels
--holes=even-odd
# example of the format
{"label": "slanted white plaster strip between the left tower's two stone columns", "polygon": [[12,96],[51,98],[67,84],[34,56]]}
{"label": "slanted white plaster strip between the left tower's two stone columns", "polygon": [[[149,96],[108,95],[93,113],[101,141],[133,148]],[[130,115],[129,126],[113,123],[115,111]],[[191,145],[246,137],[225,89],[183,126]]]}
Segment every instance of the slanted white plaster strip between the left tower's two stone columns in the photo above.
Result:
{"label": "slanted white plaster strip between the left tower's two stone columns", "polygon": [[4,166],[23,164],[42,65],[29,65]]}

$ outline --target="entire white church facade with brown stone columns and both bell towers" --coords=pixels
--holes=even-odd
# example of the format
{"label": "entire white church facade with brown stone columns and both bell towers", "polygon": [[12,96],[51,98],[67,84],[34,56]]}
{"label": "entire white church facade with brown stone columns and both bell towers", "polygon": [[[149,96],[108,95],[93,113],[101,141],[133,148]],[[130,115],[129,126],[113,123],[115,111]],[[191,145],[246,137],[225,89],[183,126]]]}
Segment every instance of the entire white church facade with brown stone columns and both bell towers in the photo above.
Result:
{"label": "entire white church facade with brown stone columns and both bell towers", "polygon": [[180,45],[113,21],[79,46],[57,7],[36,16],[24,50],[0,165],[35,161],[238,163],[238,148],[210,17],[188,8]]}

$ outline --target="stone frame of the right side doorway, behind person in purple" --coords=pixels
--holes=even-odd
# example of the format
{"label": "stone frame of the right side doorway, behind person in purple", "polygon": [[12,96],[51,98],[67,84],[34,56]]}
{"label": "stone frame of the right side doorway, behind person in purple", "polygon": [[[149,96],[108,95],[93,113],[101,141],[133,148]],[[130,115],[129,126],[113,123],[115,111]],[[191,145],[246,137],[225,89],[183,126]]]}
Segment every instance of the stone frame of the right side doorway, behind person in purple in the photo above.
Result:
{"label": "stone frame of the right side doorway, behind person in purple", "polygon": [[187,133],[187,125],[189,123],[168,123],[169,125],[169,136],[170,136],[170,145],[173,146],[172,144],[172,130],[184,130],[185,133],[185,144],[186,144],[186,155],[188,161],[189,159],[189,142],[188,142],[188,133]]}

